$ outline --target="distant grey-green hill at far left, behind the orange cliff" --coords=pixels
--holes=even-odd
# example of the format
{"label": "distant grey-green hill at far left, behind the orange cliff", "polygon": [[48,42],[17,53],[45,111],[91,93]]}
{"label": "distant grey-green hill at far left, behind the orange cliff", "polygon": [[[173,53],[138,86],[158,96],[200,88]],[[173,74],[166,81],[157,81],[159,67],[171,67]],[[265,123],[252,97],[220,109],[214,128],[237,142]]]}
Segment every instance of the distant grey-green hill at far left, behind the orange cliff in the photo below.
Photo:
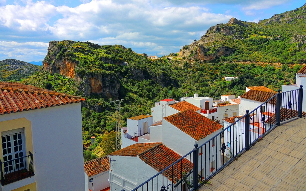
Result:
{"label": "distant grey-green hill at far left, behind the orange cliff", "polygon": [[16,80],[31,76],[39,71],[41,66],[33,65],[16,59],[6,59],[0,61],[0,80]]}

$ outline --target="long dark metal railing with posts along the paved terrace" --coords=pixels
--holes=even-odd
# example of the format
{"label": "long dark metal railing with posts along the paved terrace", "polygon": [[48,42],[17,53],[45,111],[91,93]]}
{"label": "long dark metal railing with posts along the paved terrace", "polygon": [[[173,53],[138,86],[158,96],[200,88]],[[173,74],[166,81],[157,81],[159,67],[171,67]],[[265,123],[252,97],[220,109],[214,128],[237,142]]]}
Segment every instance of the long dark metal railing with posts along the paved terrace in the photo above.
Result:
{"label": "long dark metal railing with posts along the paved terrace", "polygon": [[246,110],[245,115],[235,118],[232,124],[210,140],[200,146],[195,144],[192,151],[132,191],[198,189],[236,157],[249,150],[256,141],[279,126],[280,122],[305,116],[302,101],[302,86],[287,92],[278,90],[266,102],[250,112]]}

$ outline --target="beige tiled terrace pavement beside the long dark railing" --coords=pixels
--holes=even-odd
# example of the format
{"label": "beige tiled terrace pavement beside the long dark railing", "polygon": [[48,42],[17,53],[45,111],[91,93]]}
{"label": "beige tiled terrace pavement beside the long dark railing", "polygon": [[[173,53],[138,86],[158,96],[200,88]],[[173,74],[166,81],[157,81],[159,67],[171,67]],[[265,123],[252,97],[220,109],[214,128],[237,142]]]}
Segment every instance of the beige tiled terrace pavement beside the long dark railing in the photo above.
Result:
{"label": "beige tiled terrace pavement beside the long dark railing", "polygon": [[206,190],[306,190],[306,118],[272,130],[215,175]]}

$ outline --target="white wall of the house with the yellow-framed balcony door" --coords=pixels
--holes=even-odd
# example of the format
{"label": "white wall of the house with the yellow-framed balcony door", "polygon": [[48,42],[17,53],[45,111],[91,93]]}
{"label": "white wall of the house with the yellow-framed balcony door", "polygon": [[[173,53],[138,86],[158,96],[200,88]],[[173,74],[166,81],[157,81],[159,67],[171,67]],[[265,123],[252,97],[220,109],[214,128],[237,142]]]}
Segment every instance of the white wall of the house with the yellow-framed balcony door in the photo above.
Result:
{"label": "white wall of the house with the yellow-framed balcony door", "polygon": [[[20,118],[31,123],[35,175],[2,186],[0,190],[17,189],[28,179],[36,182],[37,190],[87,190],[84,183],[81,103],[0,115],[0,123]],[[15,128],[23,126],[18,124]],[[28,148],[25,150],[28,151]]]}

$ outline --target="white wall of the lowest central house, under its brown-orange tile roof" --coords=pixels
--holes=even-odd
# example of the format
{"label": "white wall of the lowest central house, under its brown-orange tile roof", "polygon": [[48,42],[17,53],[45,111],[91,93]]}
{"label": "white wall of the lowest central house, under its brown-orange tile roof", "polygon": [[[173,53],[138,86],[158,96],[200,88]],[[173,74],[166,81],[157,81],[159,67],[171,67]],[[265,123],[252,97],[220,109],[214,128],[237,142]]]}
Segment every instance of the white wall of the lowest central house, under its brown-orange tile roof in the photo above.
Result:
{"label": "white wall of the lowest central house, under its brown-orange tile roof", "polygon": [[[138,157],[118,155],[109,157],[111,160],[109,172],[111,191],[121,191],[122,189],[130,191],[158,173]],[[168,179],[164,177],[164,181],[166,182]],[[157,180],[154,183],[157,186]],[[171,182],[169,181],[169,183]],[[159,185],[162,185],[161,177],[159,177]],[[152,190],[152,184],[149,184],[149,186],[149,190]],[[145,187],[144,190],[147,190],[147,188]]]}

